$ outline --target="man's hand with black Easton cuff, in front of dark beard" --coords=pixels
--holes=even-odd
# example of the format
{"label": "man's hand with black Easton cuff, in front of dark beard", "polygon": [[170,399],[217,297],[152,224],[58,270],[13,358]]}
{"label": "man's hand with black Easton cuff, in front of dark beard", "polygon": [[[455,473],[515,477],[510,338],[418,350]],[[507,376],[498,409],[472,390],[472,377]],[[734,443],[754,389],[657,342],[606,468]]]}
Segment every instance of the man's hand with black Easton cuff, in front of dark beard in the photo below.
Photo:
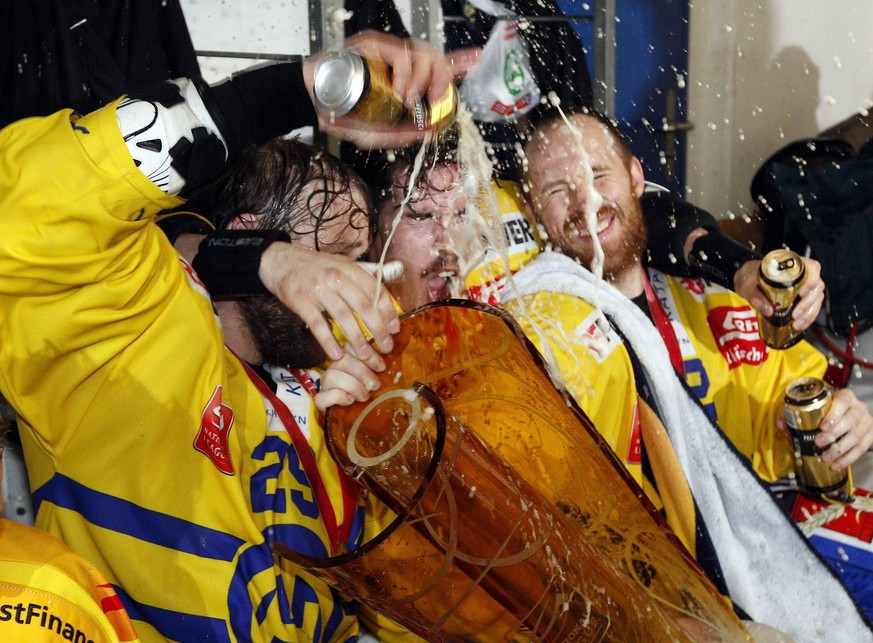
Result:
{"label": "man's hand with black Easton cuff, in front of dark beard", "polygon": [[261,256],[261,282],[309,326],[328,357],[339,360],[343,350],[333,335],[328,317],[336,321],[351,350],[364,360],[378,358],[355,315],[372,333],[383,353],[394,346],[392,334],[400,321],[391,297],[376,279],[342,255],[276,242]]}

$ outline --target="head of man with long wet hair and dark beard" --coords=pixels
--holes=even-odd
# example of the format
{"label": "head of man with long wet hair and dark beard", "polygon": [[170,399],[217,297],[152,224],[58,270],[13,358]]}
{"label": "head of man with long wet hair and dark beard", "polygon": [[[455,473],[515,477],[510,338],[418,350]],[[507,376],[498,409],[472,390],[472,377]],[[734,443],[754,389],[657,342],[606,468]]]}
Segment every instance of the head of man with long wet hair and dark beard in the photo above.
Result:
{"label": "head of man with long wet hair and dark beard", "polygon": [[[247,150],[202,205],[219,234],[279,230],[296,248],[350,260],[360,258],[371,242],[372,204],[361,178],[323,150],[299,141],[274,139]],[[234,255],[213,257],[208,244],[194,260],[195,268],[218,312],[242,316],[244,333],[254,343],[250,361],[298,368],[322,364],[325,352],[307,324],[257,283],[243,296],[232,292],[233,280],[226,276],[240,276],[243,267]],[[251,276],[257,281],[256,273]]]}

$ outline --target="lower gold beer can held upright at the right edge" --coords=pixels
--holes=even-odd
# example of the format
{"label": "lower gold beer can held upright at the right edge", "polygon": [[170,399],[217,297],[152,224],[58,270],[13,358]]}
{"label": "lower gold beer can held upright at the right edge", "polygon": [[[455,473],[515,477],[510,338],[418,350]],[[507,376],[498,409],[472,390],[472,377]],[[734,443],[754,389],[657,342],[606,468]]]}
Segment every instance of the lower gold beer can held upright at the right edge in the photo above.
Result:
{"label": "lower gold beer can held upright at the right edge", "polygon": [[797,482],[807,493],[829,500],[850,502],[854,493],[849,469],[834,471],[821,459],[828,447],[819,448],[815,436],[831,408],[831,389],[816,377],[801,377],[785,388],[785,423],[794,443]]}

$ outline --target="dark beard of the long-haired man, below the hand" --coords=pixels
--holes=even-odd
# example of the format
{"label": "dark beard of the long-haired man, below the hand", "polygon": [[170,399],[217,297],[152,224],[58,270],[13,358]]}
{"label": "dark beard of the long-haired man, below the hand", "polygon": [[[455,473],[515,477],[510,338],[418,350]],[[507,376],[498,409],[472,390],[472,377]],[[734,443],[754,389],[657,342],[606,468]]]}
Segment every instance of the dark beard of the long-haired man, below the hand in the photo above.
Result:
{"label": "dark beard of the long-haired man, below the hand", "polygon": [[239,307],[263,363],[312,368],[327,359],[309,327],[276,297],[248,297]]}

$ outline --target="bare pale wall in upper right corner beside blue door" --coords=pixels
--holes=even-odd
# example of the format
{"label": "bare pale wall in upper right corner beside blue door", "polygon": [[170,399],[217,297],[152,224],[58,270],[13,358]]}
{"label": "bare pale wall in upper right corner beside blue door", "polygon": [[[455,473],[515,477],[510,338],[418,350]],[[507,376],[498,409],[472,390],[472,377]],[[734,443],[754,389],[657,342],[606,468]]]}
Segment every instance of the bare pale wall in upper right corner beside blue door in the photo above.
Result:
{"label": "bare pale wall in upper right corner beside blue door", "polygon": [[747,213],[767,157],[873,105],[871,30],[867,0],[692,2],[689,198]]}

